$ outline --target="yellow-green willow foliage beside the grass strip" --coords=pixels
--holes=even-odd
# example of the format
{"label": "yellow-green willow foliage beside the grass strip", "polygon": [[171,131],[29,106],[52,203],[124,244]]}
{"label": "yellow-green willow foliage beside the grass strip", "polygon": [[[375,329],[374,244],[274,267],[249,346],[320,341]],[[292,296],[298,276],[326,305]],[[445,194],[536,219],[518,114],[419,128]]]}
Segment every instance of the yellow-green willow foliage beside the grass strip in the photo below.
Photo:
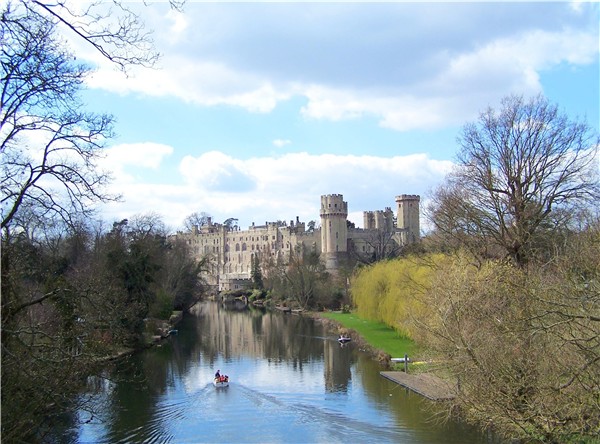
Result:
{"label": "yellow-green willow foliage beside the grass strip", "polygon": [[411,319],[426,309],[420,296],[431,286],[435,269],[444,259],[444,255],[431,254],[363,268],[352,278],[350,287],[358,315],[413,337]]}

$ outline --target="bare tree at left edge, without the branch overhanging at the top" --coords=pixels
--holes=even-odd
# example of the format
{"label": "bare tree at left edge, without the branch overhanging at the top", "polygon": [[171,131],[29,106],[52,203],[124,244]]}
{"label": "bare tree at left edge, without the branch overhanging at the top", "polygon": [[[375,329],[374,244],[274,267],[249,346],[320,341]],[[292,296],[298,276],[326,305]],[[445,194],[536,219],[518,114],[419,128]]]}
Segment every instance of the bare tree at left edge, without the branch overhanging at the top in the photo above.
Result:
{"label": "bare tree at left edge, without the branch overhanging at the top", "polygon": [[10,9],[2,13],[0,153],[2,228],[21,207],[69,221],[88,214],[109,175],[97,168],[112,118],[81,110],[88,69],[61,49],[54,24]]}

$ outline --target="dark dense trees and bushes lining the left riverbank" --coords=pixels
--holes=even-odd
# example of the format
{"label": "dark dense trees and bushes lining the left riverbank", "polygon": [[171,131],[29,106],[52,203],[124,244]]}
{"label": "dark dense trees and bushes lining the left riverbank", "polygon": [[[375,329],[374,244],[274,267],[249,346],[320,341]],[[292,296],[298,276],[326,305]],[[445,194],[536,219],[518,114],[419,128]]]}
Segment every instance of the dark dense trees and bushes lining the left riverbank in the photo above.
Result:
{"label": "dark dense trees and bushes lining the left riverbank", "polygon": [[[49,227],[46,227],[49,228]],[[156,216],[102,231],[20,230],[2,238],[2,439],[38,440],[103,360],[143,346],[145,320],[202,292],[201,264]]]}

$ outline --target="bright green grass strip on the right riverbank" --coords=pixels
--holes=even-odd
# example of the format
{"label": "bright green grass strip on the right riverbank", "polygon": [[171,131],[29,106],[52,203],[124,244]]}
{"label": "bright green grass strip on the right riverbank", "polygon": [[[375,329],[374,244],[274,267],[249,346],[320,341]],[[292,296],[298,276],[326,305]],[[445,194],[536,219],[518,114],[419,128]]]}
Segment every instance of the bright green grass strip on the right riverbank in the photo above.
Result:
{"label": "bright green grass strip on the right riverbank", "polygon": [[339,322],[345,328],[355,330],[369,345],[383,350],[392,358],[402,358],[405,353],[412,357],[419,352],[414,341],[400,336],[396,330],[382,322],[368,321],[354,313],[325,312],[321,315]]}

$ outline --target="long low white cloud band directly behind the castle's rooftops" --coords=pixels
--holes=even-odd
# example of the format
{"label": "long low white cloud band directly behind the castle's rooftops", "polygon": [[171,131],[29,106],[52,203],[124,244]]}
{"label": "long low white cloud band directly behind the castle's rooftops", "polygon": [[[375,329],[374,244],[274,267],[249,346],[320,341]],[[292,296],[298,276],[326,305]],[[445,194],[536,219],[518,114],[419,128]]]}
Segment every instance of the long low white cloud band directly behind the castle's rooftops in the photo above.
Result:
{"label": "long low white cloud band directly behind the castle's rooftops", "polygon": [[[133,164],[122,165],[127,171]],[[398,194],[424,195],[450,167],[450,162],[425,154],[387,158],[290,153],[243,160],[212,151],[184,157],[178,184],[131,184],[120,175],[113,188],[123,202],[103,207],[103,213],[116,220],[156,211],[172,228],[195,211],[219,222],[238,218],[242,227],[296,216],[318,222],[320,196],[339,193],[358,218],[353,222],[361,226],[362,211],[393,208]],[[157,172],[153,177],[160,176]]]}

